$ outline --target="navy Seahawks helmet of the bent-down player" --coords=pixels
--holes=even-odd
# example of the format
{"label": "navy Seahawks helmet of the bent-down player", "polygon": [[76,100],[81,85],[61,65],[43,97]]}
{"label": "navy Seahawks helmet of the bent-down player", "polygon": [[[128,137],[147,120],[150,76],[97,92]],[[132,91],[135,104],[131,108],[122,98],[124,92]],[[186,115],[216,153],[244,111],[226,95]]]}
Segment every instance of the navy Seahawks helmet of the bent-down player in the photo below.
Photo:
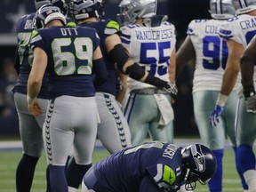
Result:
{"label": "navy Seahawks helmet of the bent-down player", "polygon": [[200,144],[191,145],[182,148],[181,156],[181,180],[185,182],[187,190],[194,190],[197,180],[202,185],[211,180],[217,167],[216,158],[211,149]]}

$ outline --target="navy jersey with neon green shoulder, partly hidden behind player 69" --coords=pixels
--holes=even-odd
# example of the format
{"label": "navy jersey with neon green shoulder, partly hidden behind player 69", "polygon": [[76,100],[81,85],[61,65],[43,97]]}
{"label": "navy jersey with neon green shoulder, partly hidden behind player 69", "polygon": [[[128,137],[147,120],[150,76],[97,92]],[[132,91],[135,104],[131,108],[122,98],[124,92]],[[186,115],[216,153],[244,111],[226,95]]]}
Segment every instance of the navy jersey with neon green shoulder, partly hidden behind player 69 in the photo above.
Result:
{"label": "navy jersey with neon green shoulder, partly hidden behind player 69", "polygon": [[95,28],[98,35],[100,36],[100,50],[104,57],[106,68],[108,69],[108,80],[104,84],[95,84],[96,92],[108,92],[112,95],[116,95],[116,66],[112,60],[108,59],[108,51],[106,49],[105,40],[108,36],[119,32],[119,25],[114,20],[84,22],[79,25],[89,28]]}

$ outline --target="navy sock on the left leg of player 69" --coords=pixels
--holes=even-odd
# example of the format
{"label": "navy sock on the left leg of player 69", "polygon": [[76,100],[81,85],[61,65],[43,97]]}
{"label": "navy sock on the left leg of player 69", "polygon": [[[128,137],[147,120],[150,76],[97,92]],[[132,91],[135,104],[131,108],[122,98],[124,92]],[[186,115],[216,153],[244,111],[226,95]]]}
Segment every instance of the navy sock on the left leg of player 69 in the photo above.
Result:
{"label": "navy sock on the left leg of player 69", "polygon": [[65,175],[65,166],[48,165],[52,192],[68,192],[68,183]]}

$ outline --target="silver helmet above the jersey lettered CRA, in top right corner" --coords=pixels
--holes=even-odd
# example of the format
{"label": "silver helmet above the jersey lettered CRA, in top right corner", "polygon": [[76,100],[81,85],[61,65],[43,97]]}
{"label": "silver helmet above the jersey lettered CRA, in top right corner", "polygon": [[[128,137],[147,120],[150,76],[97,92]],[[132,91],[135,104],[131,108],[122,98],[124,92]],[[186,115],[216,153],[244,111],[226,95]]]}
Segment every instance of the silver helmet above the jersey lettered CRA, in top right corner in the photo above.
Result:
{"label": "silver helmet above the jersey lettered CRA, in top right corner", "polygon": [[233,0],[236,14],[243,14],[256,10],[256,0]]}

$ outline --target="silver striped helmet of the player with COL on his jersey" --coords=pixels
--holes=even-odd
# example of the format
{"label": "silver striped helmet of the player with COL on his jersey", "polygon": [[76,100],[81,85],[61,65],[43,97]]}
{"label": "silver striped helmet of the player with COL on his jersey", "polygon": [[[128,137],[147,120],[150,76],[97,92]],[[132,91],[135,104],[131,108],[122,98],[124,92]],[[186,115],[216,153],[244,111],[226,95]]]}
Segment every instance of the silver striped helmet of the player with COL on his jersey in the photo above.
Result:
{"label": "silver striped helmet of the player with COL on his jersey", "polygon": [[227,20],[236,15],[232,0],[210,0],[210,10],[213,19]]}

